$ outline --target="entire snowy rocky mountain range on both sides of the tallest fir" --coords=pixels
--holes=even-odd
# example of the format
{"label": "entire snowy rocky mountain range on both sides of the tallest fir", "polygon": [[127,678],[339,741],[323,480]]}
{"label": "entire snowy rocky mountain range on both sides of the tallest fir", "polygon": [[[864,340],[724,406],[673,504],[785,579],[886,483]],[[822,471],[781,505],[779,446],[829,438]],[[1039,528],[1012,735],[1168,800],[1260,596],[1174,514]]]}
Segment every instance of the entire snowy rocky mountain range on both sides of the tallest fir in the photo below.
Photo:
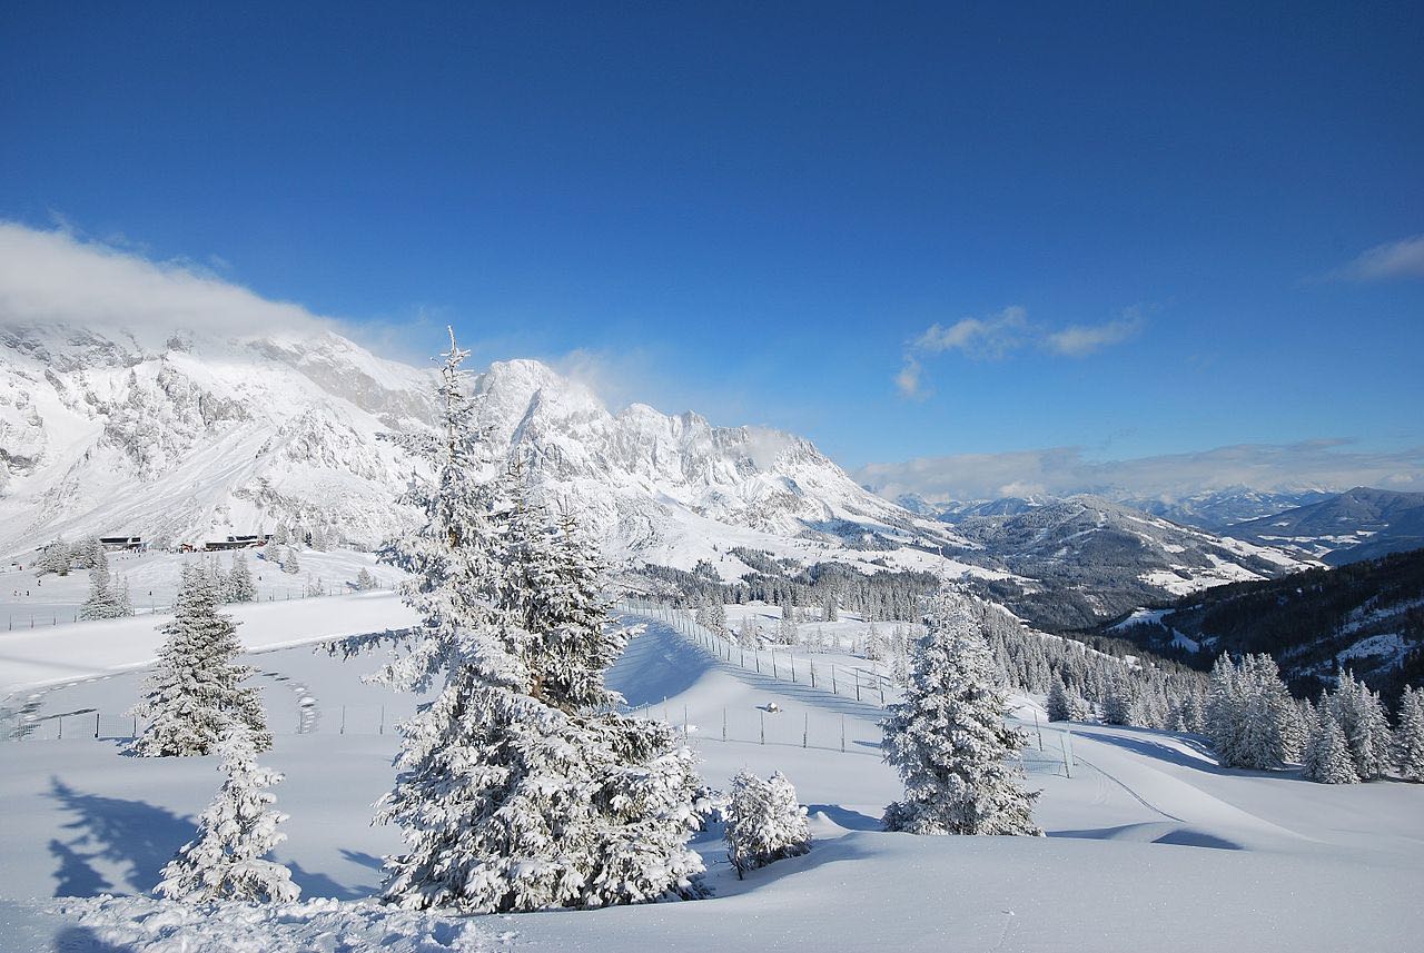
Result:
{"label": "entire snowy rocky mountain range on both sides of the tallest fir", "polygon": [[[376,435],[427,427],[429,371],[325,330],[11,324],[0,348],[4,553],[87,533],[201,543],[278,522],[375,545],[406,518],[392,501],[412,461]],[[736,577],[736,546],[918,568],[944,565],[931,548],[973,548],[789,434],[642,404],[615,415],[537,361],[497,363],[473,387],[498,449],[551,501],[577,501],[615,558],[705,559]]]}

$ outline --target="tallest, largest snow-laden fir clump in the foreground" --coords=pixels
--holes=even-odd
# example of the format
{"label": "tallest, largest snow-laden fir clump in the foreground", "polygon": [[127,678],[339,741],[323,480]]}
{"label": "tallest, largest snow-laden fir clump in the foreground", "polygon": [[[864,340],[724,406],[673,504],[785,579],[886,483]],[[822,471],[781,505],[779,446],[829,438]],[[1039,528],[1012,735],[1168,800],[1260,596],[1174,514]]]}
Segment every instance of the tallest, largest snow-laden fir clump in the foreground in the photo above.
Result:
{"label": "tallest, largest snow-laden fir clump in the foreground", "polygon": [[403,498],[424,522],[382,553],[413,575],[422,624],[380,677],[439,687],[400,725],[377,808],[406,842],[384,898],[477,913],[692,896],[692,754],[671,727],[607,711],[619,698],[602,673],[627,633],[609,624],[602,566],[484,457],[453,333],[444,357],[437,435],[394,438],[430,464]]}

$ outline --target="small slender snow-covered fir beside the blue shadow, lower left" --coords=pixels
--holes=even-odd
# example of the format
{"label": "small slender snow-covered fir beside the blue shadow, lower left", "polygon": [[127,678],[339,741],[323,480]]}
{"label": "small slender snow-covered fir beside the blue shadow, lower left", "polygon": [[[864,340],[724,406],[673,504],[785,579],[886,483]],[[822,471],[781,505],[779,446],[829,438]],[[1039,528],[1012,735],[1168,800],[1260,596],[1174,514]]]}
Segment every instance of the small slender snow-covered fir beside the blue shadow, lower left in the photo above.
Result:
{"label": "small slender snow-covered fir beside the blue shadow, lower left", "polygon": [[268,788],[282,775],[258,764],[252,734],[235,723],[218,744],[226,775],[208,809],[198,816],[198,836],[178,849],[155,888],[169,900],[246,900],[286,903],[300,896],[292,872],[266,855],[286,839]]}

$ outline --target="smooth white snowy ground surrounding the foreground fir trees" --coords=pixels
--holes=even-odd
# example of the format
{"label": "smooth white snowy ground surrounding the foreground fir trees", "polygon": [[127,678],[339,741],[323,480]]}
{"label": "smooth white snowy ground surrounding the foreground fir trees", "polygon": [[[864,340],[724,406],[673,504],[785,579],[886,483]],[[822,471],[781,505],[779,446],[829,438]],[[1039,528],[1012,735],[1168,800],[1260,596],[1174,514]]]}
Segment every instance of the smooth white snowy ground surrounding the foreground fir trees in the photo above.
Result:
{"label": "smooth white snowy ground surrounding the foreground fir trees", "polygon": [[[711,784],[725,788],[740,768],[786,772],[810,809],[812,852],[738,880],[713,826],[696,842],[715,890],[708,900],[470,919],[392,915],[366,899],[380,883],[380,855],[399,839],[373,828],[370,815],[393,779],[390,721],[413,701],[362,683],[377,657],[340,661],[293,643],[396,627],[402,612],[384,593],[239,607],[244,644],[262,649],[248,661],[263,673],[256,684],[276,733],[263,761],[288,775],[275,791],[290,815],[276,856],[303,899],[212,915],[142,898],[192,836],[192,818],[219,779],[216,758],[124,757],[118,738],[128,730],[118,715],[101,717],[98,740],[93,714],[71,715],[63,740],[47,720],[132,704],[141,678],[132,669],[152,657],[157,637],[145,643],[137,629],[104,626],[155,620],[0,639],[0,696],[44,680],[36,673],[101,676],[17,693],[46,731],[0,744],[0,950],[1138,953],[1408,950],[1424,937],[1420,785],[1331,787],[1290,772],[1227,771],[1192,737],[1136,728],[1072,725],[1068,740],[1061,725],[1042,724],[1040,751],[1025,707],[1025,768],[1030,787],[1042,791],[1035,816],[1048,838],[883,834],[880,812],[901,791],[876,750],[879,698],[857,703],[843,688],[812,688],[803,673],[792,683],[785,671],[772,677],[715,660],[656,622],[631,643],[611,683],[648,717],[686,721]],[[772,703],[780,711],[769,713]],[[722,741],[723,724],[732,740]]]}

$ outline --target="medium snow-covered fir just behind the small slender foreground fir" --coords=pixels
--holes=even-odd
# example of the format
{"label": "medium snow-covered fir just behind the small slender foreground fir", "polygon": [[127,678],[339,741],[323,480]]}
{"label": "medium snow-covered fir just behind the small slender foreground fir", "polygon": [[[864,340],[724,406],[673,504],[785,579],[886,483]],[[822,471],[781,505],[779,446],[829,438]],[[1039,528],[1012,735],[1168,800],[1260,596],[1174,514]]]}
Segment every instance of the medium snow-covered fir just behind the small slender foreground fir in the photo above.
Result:
{"label": "medium snow-covered fir just behind the small slender foreground fir", "polygon": [[211,754],[235,723],[246,727],[259,750],[272,747],[256,688],[242,684],[253,670],[235,663],[241,650],[238,630],[218,610],[219,603],[204,568],[184,566],[174,619],[159,627],[168,639],[144,683],[144,698],[132,708],[132,714],[148,718],[131,747],[134,754]]}

